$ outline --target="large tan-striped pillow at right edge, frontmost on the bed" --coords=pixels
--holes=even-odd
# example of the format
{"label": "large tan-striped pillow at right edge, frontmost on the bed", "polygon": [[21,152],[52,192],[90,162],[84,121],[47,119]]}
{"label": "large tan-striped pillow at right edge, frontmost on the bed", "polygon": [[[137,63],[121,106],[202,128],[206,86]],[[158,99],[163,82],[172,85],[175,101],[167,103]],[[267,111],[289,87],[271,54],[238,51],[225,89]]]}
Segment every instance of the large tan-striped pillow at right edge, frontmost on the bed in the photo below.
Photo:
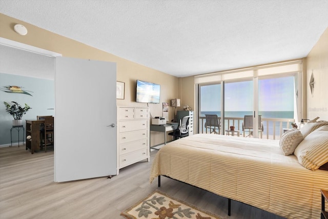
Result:
{"label": "large tan-striped pillow at right edge, frontmost on the bed", "polygon": [[311,132],[294,151],[298,162],[305,168],[317,170],[328,162],[328,125]]}

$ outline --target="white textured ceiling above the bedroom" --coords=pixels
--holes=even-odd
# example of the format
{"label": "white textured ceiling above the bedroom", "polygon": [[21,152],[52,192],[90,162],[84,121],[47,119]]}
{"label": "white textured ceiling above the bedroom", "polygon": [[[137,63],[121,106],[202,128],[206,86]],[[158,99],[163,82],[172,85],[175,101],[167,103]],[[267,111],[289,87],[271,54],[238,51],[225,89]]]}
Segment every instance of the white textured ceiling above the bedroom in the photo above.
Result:
{"label": "white textured ceiling above the bedroom", "polygon": [[0,13],[178,77],[305,57],[327,11],[326,0],[0,1]]}

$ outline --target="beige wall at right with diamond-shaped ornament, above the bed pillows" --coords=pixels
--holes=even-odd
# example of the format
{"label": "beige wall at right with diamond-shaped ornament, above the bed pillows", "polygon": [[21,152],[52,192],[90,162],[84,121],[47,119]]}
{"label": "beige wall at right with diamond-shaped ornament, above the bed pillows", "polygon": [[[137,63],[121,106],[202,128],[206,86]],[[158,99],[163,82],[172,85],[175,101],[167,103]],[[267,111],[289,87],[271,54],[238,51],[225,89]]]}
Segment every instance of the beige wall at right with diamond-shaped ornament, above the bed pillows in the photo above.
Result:
{"label": "beige wall at right with diamond-shaped ornament, above the bed pillows", "polygon": [[[328,121],[328,28],[306,59],[306,118],[319,116],[320,120]],[[309,86],[312,72],[315,81],[313,94]]]}

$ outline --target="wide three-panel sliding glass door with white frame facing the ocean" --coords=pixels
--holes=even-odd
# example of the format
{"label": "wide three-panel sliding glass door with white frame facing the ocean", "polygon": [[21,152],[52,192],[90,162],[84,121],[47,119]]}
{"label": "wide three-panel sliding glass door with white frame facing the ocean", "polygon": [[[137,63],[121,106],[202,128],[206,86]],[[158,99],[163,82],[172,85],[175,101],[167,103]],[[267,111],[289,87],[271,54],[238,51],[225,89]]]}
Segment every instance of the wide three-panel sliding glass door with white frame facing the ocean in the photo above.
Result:
{"label": "wide three-panel sliding glass door with white frame facing the ocean", "polygon": [[198,133],[215,114],[220,134],[238,134],[234,126],[240,136],[279,140],[302,116],[302,68],[296,60],[195,76]]}

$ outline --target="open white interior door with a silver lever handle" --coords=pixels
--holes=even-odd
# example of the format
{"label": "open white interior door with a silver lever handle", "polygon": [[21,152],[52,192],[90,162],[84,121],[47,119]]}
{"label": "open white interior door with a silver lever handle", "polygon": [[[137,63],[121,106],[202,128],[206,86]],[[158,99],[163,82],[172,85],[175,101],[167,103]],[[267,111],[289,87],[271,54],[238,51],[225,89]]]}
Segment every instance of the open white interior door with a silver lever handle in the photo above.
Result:
{"label": "open white interior door with a silver lever handle", "polygon": [[54,181],[115,175],[116,64],[57,57],[55,99]]}

